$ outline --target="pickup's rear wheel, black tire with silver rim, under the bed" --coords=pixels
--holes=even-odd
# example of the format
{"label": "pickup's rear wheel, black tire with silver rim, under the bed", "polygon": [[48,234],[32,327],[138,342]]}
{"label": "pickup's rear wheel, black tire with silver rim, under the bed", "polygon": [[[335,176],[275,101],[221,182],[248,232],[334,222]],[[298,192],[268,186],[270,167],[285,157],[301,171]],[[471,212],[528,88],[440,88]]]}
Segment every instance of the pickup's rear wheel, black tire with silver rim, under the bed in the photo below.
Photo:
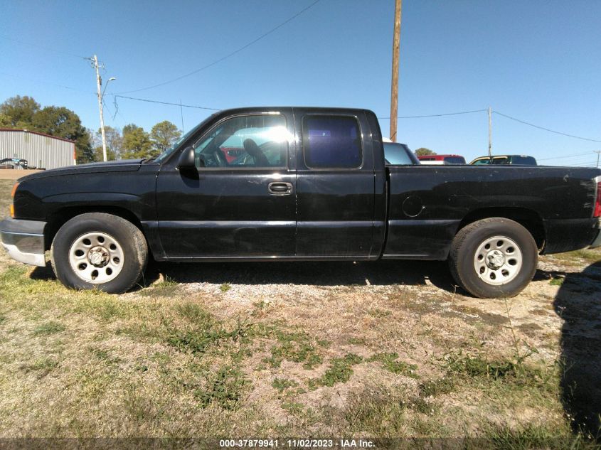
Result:
{"label": "pickup's rear wheel, black tire with silver rim, under the bed", "polygon": [[[501,238],[492,240],[493,237]],[[500,250],[496,250],[496,245]],[[455,235],[449,255],[449,267],[457,284],[481,299],[516,296],[531,282],[537,264],[538,249],[530,232],[506,218],[488,218],[466,225]],[[504,282],[504,278],[508,281]]]}

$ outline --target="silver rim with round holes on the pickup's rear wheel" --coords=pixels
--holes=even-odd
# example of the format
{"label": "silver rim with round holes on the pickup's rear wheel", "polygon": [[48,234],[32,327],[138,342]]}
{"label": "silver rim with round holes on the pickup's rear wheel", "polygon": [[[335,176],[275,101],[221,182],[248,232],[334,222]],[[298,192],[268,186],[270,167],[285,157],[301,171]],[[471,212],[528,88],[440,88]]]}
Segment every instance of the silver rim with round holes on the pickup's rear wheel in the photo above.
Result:
{"label": "silver rim with round holes on the pickup's rear wheel", "polygon": [[511,282],[520,272],[522,264],[520,247],[506,236],[493,236],[482,241],[474,255],[476,274],[492,286]]}

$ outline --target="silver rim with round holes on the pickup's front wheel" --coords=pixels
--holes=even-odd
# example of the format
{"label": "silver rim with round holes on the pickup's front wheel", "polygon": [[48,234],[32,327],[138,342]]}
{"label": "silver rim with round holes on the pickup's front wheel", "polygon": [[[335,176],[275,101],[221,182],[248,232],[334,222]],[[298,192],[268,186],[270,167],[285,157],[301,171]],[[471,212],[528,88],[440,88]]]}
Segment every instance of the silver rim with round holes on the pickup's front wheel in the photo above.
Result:
{"label": "silver rim with round holes on the pickup's front wheel", "polygon": [[102,284],[115,279],[123,269],[121,245],[105,232],[88,232],[69,249],[69,264],[84,282]]}

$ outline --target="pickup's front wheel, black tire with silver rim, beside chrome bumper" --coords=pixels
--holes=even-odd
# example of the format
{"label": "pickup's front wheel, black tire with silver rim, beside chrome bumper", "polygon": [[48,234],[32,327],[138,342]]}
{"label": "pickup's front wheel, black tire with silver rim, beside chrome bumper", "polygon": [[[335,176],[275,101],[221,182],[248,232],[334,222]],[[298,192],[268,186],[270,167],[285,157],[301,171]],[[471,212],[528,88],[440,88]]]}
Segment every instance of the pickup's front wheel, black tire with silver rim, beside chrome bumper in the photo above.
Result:
{"label": "pickup's front wheel, black tire with silver rim, beside chrome bumper", "polygon": [[[107,278],[107,282],[100,282],[100,277],[87,281],[83,279],[83,275],[76,273],[71,264],[72,260],[75,261],[75,259],[70,259],[75,257],[75,252],[72,256],[70,251],[77,248],[78,242],[85,241],[85,239],[81,240],[82,237],[94,233],[98,233],[100,237],[97,239],[102,242],[105,240],[104,237],[110,238],[110,242],[115,242],[119,247],[115,247],[115,245],[110,245],[110,247],[115,247],[115,250],[119,251],[119,257],[112,258],[115,253],[110,250],[108,245],[106,248],[100,247],[102,244],[99,242],[101,241],[91,242],[90,252],[87,254],[80,252],[83,254],[80,266],[87,267],[90,264],[90,269],[96,274],[100,270],[102,276]],[[89,239],[87,241],[90,242]],[[100,262],[100,264],[104,263],[104,266],[91,264],[92,260],[89,255],[98,248],[104,248],[104,250],[96,251],[99,255],[105,255],[103,252],[106,252],[108,262],[104,262],[104,260]],[[85,213],[68,220],[65,225],[60,227],[50,247],[50,260],[56,277],[65,286],[73,289],[100,289],[110,294],[121,294],[131,289],[142,277],[148,260],[148,247],[139,228],[124,218],[106,213]],[[109,265],[112,260],[119,264],[115,270]],[[98,270],[95,270],[96,268]],[[107,274],[109,271],[111,273]],[[115,272],[117,273],[115,274]]]}

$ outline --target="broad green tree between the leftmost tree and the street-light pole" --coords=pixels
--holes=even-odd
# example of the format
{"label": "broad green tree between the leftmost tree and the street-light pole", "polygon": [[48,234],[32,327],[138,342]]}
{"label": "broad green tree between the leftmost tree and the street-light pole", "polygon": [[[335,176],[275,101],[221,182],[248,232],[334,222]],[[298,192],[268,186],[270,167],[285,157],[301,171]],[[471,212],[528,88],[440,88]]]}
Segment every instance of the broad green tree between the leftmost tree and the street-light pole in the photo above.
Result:
{"label": "broad green tree between the leftmost tree and the street-light pole", "polygon": [[65,107],[47,106],[33,114],[33,129],[75,141],[75,153],[79,164],[94,161],[90,134],[81,124],[78,114]]}

